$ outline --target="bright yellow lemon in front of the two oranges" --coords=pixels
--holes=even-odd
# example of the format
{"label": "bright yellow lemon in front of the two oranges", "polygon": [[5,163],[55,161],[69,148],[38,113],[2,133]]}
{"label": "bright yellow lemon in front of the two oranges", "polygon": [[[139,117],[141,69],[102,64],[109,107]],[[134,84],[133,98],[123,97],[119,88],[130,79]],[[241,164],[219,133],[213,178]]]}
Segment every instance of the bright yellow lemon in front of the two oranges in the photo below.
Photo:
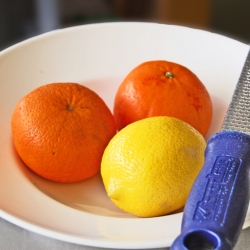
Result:
{"label": "bright yellow lemon in front of the two oranges", "polygon": [[154,217],[182,208],[203,166],[206,141],[171,117],[134,122],[110,141],[101,175],[110,199],[124,211]]}

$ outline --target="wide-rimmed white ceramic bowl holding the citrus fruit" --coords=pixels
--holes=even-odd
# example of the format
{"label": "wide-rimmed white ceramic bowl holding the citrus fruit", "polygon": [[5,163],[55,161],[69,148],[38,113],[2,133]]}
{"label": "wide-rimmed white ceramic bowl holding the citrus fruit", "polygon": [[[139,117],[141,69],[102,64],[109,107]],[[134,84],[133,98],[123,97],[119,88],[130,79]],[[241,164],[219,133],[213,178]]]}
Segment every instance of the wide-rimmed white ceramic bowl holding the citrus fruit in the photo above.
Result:
{"label": "wide-rimmed white ceramic bowl holding the citrus fruit", "polygon": [[[77,82],[112,110],[118,85],[138,64],[168,60],[191,69],[207,87],[219,131],[248,45],[210,32],[152,23],[104,23],[53,31],[0,53],[0,216],[56,239],[108,248],[170,246],[182,213],[135,218],[108,199],[100,175],[75,184],[46,181],[27,169],[12,145],[17,102],[51,82]],[[244,227],[249,225],[249,212]]]}

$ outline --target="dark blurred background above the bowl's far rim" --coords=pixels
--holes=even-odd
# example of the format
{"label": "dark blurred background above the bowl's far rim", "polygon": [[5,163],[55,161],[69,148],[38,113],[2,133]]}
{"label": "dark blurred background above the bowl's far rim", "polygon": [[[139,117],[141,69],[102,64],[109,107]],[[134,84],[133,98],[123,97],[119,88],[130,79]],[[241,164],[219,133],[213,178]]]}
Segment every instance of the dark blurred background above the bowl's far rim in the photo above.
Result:
{"label": "dark blurred background above the bowl's far rim", "polygon": [[249,0],[0,0],[0,50],[54,29],[115,21],[182,25],[250,43]]}

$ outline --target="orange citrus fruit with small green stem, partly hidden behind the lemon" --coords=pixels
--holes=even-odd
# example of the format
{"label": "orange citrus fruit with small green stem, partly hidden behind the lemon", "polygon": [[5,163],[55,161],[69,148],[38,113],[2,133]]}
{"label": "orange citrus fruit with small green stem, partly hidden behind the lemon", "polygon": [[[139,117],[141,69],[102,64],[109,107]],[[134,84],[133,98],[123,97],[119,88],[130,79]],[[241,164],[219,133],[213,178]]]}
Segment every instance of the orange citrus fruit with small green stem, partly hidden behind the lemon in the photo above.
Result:
{"label": "orange citrus fruit with small green stem, partly hidden behind the lemon", "polygon": [[119,86],[114,116],[118,130],[143,118],[171,116],[204,136],[212,120],[212,102],[203,83],[186,67],[148,61],[135,67]]}

